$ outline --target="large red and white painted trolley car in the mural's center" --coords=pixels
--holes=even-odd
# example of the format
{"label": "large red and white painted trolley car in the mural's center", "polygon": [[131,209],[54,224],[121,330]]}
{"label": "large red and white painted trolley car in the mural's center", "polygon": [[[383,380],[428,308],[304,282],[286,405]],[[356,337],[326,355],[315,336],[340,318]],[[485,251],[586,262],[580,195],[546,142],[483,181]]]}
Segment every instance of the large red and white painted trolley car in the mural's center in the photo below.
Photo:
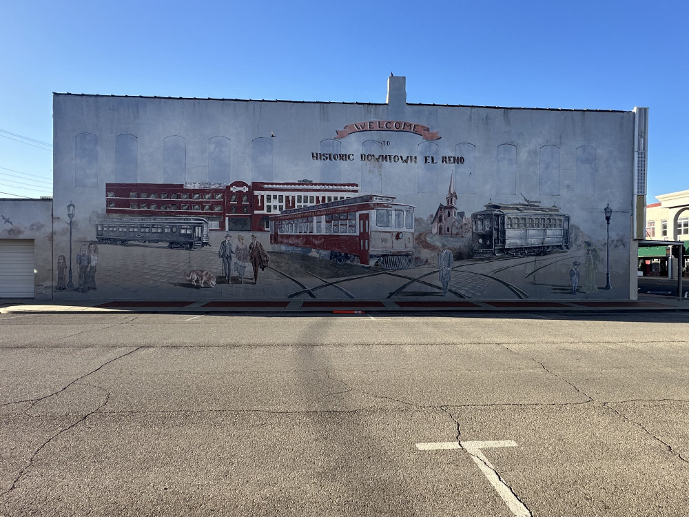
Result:
{"label": "large red and white painted trolley car in the mural's center", "polygon": [[315,250],[338,264],[413,267],[414,207],[368,194],[271,216],[270,242],[284,251]]}

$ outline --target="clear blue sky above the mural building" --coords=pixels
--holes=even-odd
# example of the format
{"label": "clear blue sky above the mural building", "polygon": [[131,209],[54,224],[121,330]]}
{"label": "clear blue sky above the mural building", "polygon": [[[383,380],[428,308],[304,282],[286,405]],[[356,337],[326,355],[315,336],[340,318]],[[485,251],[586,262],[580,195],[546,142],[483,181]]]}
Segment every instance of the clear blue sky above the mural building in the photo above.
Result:
{"label": "clear blue sky above the mural building", "polygon": [[689,189],[687,19],[679,0],[7,0],[0,197],[52,193],[52,92],[384,102],[393,72],[410,103],[647,106],[653,202]]}

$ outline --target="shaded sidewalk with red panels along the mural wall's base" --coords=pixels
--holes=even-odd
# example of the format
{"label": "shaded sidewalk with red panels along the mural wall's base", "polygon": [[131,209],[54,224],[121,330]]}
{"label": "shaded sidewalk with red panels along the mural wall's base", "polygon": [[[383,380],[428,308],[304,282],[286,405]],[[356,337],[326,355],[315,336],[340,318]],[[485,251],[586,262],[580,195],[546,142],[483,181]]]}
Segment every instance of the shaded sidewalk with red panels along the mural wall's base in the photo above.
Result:
{"label": "shaded sidewalk with red panels along the mural wall's base", "polygon": [[64,301],[36,303],[23,299],[0,301],[0,314],[42,314],[42,313],[103,313],[103,312],[178,312],[183,314],[236,313],[481,313],[481,312],[640,312],[640,311],[689,311],[689,299],[677,300],[676,296],[655,296],[639,294],[636,301],[390,301],[390,300],[352,300],[325,301],[290,299],[274,301],[172,301],[172,300],[132,300],[88,301],[78,305],[68,305]]}

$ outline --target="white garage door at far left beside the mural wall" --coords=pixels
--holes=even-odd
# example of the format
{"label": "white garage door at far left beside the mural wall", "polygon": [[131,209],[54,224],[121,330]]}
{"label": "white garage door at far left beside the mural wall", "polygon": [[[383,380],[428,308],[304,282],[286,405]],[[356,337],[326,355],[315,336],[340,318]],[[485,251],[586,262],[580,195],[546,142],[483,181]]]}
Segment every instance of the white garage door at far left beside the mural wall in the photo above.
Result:
{"label": "white garage door at far left beside the mural wall", "polygon": [[0,239],[0,298],[34,297],[34,241]]}

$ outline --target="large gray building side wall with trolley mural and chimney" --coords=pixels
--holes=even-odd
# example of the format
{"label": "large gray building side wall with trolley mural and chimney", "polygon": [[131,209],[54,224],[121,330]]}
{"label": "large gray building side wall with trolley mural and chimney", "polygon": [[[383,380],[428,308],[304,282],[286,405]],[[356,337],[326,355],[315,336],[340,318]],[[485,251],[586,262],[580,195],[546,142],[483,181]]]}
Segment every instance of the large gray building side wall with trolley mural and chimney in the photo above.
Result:
{"label": "large gray building side wall with trolley mural and chimney", "polygon": [[628,299],[647,112],[54,94],[36,296]]}

